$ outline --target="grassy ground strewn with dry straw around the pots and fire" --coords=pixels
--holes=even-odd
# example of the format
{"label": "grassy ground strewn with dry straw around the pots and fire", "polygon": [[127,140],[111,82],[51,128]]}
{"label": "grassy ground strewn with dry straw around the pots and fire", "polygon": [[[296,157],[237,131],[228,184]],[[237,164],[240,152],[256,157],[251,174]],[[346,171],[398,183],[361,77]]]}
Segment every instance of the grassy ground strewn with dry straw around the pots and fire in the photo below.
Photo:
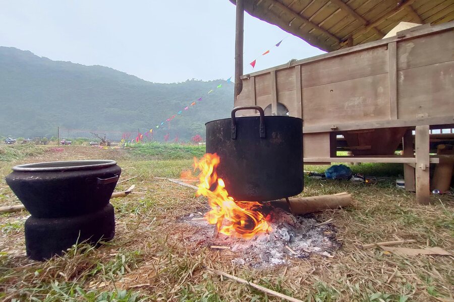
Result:
{"label": "grassy ground strewn with dry straw around the pots and fire", "polygon": [[[6,301],[280,301],[247,285],[209,273],[215,268],[304,301],[451,301],[451,256],[401,257],[360,245],[414,239],[406,247],[454,249],[454,198],[431,196],[433,205],[390,181],[364,185],[306,178],[302,196],[347,191],[354,205],[315,214],[331,220],[342,247],[334,258],[312,255],[290,266],[257,270],[233,266],[234,254],[188,240],[197,232],[179,220],[206,208],[190,188],[154,177],[178,178],[191,169],[203,146],[144,144],[130,149],[85,146],[2,146],[0,206],[19,201],[4,181],[21,163],[115,159],[122,167],[118,191],[135,184],[135,194],[112,199],[116,237],[94,249],[74,246],[63,257],[35,262],[25,257],[24,221],[28,212],[0,216],[0,299]],[[6,150],[6,151],[5,151]],[[306,171],[326,167],[305,166]],[[395,165],[353,166],[356,173],[398,177]]]}

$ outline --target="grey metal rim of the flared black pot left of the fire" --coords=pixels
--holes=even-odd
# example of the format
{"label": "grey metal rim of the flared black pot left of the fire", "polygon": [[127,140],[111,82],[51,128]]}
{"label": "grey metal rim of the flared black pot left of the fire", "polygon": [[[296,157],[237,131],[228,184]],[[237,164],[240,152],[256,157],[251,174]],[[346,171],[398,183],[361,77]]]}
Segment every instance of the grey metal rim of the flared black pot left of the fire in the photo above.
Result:
{"label": "grey metal rim of the flared black pot left of the fire", "polygon": [[[71,164],[76,165],[71,166]],[[117,162],[112,160],[84,160],[84,161],[61,161],[25,164],[15,166],[12,169],[13,171],[16,172],[64,172],[64,171],[96,170],[115,165],[117,165]]]}

